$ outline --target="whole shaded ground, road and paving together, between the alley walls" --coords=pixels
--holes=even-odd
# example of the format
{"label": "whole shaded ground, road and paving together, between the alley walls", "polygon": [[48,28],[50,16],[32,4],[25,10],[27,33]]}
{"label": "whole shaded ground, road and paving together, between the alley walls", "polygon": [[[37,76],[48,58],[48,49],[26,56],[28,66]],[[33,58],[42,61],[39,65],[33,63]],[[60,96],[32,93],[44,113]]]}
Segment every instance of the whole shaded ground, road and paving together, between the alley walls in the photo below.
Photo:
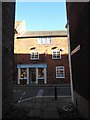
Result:
{"label": "whole shaded ground, road and paving together, between the alley walls", "polygon": [[82,119],[71,102],[69,90],[68,87],[58,87],[56,98],[53,87],[14,87],[13,107],[3,120]]}

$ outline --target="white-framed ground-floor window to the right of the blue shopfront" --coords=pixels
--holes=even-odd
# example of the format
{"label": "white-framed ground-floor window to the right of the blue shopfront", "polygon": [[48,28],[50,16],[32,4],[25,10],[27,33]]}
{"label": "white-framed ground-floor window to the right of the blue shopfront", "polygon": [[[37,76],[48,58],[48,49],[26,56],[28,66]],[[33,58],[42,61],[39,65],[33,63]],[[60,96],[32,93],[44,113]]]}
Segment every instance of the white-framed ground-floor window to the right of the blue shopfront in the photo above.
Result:
{"label": "white-framed ground-floor window to the right of the blue shopfront", "polygon": [[56,78],[65,78],[64,66],[56,67]]}

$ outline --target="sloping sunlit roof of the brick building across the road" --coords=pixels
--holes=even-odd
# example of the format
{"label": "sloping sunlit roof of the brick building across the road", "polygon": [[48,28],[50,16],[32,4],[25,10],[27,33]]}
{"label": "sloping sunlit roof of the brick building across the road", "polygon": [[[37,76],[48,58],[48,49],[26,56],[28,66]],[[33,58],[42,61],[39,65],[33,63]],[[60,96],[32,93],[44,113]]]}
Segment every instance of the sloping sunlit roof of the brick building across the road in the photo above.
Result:
{"label": "sloping sunlit roof of the brick building across the road", "polygon": [[30,37],[49,37],[49,36],[67,36],[66,30],[56,31],[26,31],[22,36],[18,38],[30,38]]}

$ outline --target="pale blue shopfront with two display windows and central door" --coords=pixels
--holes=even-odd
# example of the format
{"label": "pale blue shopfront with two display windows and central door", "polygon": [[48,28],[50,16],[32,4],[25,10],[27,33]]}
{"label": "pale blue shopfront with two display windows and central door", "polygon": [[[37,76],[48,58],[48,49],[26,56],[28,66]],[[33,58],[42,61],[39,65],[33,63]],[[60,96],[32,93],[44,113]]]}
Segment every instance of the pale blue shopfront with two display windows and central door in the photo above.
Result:
{"label": "pale blue shopfront with two display windows and central door", "polygon": [[18,84],[38,84],[40,80],[47,83],[46,64],[17,65]]}

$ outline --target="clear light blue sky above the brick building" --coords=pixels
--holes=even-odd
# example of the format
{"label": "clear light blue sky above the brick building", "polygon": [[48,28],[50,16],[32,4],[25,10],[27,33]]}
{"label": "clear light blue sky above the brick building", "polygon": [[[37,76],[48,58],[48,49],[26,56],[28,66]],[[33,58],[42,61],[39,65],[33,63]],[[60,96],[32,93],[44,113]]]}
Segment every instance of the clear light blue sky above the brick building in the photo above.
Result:
{"label": "clear light blue sky above the brick building", "polygon": [[17,2],[15,20],[25,20],[27,31],[66,30],[66,4]]}

